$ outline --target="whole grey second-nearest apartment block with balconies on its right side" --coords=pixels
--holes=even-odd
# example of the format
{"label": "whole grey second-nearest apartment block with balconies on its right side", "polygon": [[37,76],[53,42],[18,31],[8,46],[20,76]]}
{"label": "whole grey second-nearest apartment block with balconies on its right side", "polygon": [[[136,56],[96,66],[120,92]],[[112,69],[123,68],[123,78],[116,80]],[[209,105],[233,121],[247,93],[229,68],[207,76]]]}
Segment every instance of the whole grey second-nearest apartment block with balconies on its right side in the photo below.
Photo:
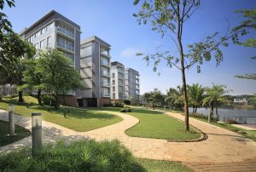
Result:
{"label": "whole grey second-nearest apartment block with balconies on its right side", "polygon": [[110,104],[110,45],[99,37],[81,42],[80,74],[85,84],[79,106]]}

